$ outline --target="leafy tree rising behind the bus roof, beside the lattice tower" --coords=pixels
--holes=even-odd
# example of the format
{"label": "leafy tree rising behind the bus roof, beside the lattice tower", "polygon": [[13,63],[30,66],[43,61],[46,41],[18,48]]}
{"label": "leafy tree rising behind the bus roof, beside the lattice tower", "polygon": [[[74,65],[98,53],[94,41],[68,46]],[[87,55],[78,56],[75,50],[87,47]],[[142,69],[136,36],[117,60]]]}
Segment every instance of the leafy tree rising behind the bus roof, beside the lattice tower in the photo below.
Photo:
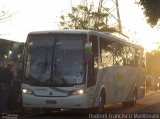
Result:
{"label": "leafy tree rising behind the bus roof, beside the lattice tower", "polygon": [[76,7],[72,7],[71,13],[67,16],[61,15],[59,26],[63,29],[89,29],[98,31],[115,32],[115,28],[109,28],[107,25],[108,11],[103,7],[103,0],[99,1],[97,9],[93,2],[87,3],[87,0],[81,2]]}

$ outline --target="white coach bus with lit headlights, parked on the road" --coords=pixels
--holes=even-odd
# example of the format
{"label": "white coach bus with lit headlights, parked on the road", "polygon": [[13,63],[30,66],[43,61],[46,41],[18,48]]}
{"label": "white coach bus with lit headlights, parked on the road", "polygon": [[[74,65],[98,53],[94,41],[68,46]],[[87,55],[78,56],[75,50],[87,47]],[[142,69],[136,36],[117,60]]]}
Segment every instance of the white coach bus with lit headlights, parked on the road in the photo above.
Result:
{"label": "white coach bus with lit headlights, parked on the road", "polygon": [[24,108],[87,109],[145,96],[143,48],[92,30],[28,34],[23,62]]}

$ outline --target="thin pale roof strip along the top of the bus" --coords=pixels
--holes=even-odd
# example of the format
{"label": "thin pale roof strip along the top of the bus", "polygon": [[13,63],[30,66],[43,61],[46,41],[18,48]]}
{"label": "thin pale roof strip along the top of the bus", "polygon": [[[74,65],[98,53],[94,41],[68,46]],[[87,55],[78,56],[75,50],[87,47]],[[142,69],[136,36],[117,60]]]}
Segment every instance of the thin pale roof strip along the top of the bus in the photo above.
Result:
{"label": "thin pale roof strip along the top of the bus", "polygon": [[129,45],[129,46],[132,46],[132,47],[135,47],[135,48],[138,48],[138,49],[144,49],[142,46],[140,45],[137,45],[137,44],[133,44],[133,43],[130,43],[128,41],[126,41],[125,39],[123,38],[119,38],[109,32],[99,32],[99,31],[94,31],[94,30],[79,30],[79,29],[61,29],[61,30],[48,30],[48,31],[33,31],[33,32],[30,32],[28,35],[31,35],[31,34],[92,34],[92,35],[100,35],[102,37],[105,37],[105,38],[109,38],[110,40],[115,40],[117,42],[120,42],[122,44],[126,44],[126,45]]}

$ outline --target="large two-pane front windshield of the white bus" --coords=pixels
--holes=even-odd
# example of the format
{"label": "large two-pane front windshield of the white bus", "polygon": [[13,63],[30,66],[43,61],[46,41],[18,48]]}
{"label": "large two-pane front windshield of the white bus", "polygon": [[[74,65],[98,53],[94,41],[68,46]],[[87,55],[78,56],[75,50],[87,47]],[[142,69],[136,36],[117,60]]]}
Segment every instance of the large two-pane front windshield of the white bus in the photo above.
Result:
{"label": "large two-pane front windshield of the white bus", "polygon": [[80,35],[33,35],[26,48],[25,80],[36,84],[84,82],[84,39]]}

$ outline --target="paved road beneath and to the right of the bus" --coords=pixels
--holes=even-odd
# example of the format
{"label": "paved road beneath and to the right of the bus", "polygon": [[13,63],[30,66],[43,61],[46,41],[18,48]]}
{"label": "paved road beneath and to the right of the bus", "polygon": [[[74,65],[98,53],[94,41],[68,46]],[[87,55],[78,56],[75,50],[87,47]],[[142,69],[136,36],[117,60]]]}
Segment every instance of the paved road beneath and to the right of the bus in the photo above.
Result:
{"label": "paved road beneath and to the right of the bus", "polygon": [[[159,113],[159,114],[158,114]],[[99,117],[98,117],[99,116]],[[134,107],[124,108],[121,104],[106,106],[104,114],[94,113],[93,110],[85,110],[83,112],[75,110],[67,110],[62,112],[53,112],[51,114],[33,114],[25,115],[25,119],[124,119],[124,118],[139,118],[139,119],[160,119],[160,91],[149,92],[147,95],[137,101]]]}

